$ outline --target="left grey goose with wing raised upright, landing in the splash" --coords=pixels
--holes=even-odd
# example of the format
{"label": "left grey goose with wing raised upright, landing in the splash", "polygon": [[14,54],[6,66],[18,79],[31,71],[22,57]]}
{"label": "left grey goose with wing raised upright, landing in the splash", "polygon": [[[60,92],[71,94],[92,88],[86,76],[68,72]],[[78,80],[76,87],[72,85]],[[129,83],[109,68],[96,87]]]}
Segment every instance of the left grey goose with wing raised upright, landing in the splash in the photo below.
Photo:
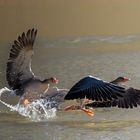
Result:
{"label": "left grey goose with wing raised upright, landing in the splash", "polygon": [[14,41],[7,62],[6,79],[17,96],[22,96],[21,103],[28,104],[46,93],[51,83],[57,84],[54,77],[41,80],[31,69],[34,54],[34,41],[37,30],[29,29]]}

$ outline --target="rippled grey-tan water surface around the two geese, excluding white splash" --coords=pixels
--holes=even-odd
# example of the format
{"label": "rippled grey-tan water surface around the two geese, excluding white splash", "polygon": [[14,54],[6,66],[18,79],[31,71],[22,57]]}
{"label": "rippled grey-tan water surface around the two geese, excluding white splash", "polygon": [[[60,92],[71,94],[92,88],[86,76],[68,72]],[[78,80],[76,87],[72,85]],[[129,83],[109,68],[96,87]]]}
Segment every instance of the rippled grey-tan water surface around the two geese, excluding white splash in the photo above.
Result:
{"label": "rippled grey-tan water surface around the two geese, excluding white splash", "polygon": [[[60,79],[70,88],[86,75],[111,81],[128,76],[129,86],[140,88],[139,35],[64,38],[36,42],[32,69],[39,76]],[[7,86],[5,67],[10,46],[1,44],[0,86]],[[16,99],[5,99],[11,104]],[[140,108],[95,109],[89,117],[81,111],[57,112],[56,117],[34,122],[0,104],[1,140],[138,140]]]}

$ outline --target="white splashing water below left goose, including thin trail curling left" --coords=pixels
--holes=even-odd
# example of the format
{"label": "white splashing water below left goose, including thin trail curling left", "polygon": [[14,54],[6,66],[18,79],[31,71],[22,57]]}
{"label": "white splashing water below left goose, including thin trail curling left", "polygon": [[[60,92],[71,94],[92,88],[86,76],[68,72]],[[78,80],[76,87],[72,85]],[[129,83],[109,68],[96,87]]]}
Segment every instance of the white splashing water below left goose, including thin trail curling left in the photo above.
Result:
{"label": "white splashing water below left goose, including thin trail curling left", "polygon": [[[0,96],[5,92],[12,92],[8,88],[0,89]],[[10,108],[10,111],[17,111],[20,115],[30,118],[32,121],[45,121],[50,118],[56,117],[57,109],[53,107],[55,104],[54,101],[49,101],[47,99],[38,99],[33,101],[31,104],[24,106],[18,103],[13,106],[2,100],[0,100],[2,104]]]}

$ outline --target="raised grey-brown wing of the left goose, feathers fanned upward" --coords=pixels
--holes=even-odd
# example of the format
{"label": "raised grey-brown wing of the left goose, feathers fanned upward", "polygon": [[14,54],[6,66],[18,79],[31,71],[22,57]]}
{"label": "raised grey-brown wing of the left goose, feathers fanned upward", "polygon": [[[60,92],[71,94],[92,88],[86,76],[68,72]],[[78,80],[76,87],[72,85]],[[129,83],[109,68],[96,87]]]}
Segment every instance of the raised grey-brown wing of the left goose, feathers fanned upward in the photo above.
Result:
{"label": "raised grey-brown wing of the left goose, feathers fanned upward", "polygon": [[34,77],[31,58],[36,34],[35,29],[28,30],[26,34],[23,32],[12,45],[6,71],[7,81],[12,89],[18,88],[24,81]]}

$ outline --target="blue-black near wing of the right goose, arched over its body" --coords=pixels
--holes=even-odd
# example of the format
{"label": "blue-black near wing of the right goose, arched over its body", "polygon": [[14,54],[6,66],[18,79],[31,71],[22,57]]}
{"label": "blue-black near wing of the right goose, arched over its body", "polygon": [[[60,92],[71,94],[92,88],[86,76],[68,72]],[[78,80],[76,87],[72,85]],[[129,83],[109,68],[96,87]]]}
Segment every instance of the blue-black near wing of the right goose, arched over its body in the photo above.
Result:
{"label": "blue-black near wing of the right goose, arched over its body", "polygon": [[108,101],[123,97],[125,88],[87,76],[77,82],[65,96],[66,100],[88,98],[95,101]]}

